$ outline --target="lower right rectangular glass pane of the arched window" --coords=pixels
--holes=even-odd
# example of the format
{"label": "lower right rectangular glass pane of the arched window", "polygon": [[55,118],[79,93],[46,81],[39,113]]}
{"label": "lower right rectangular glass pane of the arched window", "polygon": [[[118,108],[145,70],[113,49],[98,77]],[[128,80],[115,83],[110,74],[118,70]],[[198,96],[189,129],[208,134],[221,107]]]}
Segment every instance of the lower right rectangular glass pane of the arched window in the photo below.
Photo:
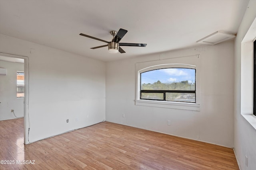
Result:
{"label": "lower right rectangular glass pane of the arched window", "polygon": [[196,94],[194,93],[166,93],[166,101],[175,102],[196,102]]}

